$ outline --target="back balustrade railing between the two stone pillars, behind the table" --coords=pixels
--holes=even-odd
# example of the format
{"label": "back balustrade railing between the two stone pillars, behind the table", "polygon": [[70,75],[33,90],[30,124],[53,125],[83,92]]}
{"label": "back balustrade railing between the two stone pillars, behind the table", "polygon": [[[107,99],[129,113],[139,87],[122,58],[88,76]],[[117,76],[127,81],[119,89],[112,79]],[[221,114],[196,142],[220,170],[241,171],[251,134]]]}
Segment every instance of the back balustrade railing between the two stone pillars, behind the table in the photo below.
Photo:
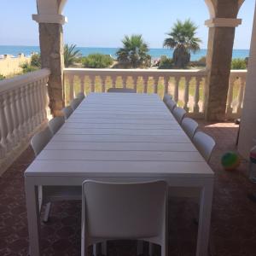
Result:
{"label": "back balustrade railing between the two stone pillars, behind the table", "polygon": [[205,70],[88,69],[65,68],[66,103],[85,91],[105,92],[111,87],[133,88],[138,93],[170,93],[191,115],[204,108]]}

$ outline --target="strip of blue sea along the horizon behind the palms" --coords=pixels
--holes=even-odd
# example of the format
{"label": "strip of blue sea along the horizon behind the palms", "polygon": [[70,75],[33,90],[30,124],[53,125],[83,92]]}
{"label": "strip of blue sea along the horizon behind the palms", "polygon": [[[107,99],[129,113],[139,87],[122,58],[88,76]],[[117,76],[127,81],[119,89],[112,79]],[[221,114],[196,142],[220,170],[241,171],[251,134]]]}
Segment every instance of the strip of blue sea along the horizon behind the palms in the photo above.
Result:
{"label": "strip of blue sea along the horizon behind the palms", "polygon": [[[78,47],[82,55],[90,55],[91,53],[102,53],[105,55],[113,55],[118,48],[93,48],[93,47]],[[11,46],[11,45],[0,45],[0,55],[19,55],[24,53],[25,55],[30,55],[32,52],[39,52],[38,46]],[[172,49],[150,49],[149,54],[152,58],[159,58],[160,55],[167,55],[172,57]],[[207,55],[207,49],[201,49],[196,54],[191,55],[191,61],[196,61],[202,56]],[[234,49],[233,58],[246,58],[249,55],[248,49]]]}

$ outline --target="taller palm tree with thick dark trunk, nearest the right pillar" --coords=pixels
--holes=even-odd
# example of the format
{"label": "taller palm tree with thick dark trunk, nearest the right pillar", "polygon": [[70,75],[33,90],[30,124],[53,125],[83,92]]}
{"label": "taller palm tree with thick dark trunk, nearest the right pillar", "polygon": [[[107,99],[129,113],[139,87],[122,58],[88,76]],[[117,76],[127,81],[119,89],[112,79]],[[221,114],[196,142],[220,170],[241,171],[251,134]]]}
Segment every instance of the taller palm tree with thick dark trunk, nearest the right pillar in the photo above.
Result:
{"label": "taller palm tree with thick dark trunk, nearest the right pillar", "polygon": [[195,37],[197,28],[191,20],[177,20],[172,31],[167,33],[169,38],[165,39],[164,47],[174,49],[172,58],[176,67],[186,67],[190,61],[190,52],[195,53],[200,49],[201,39]]}

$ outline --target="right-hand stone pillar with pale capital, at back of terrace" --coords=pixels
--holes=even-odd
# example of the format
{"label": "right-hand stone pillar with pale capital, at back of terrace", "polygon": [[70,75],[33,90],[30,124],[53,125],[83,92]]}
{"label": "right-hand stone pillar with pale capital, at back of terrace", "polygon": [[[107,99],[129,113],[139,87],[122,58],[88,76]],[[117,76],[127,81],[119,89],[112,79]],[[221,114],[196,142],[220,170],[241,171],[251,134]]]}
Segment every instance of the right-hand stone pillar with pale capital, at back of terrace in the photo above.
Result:
{"label": "right-hand stone pillar with pale capital, at back of terrace", "polygon": [[215,17],[206,21],[209,38],[205,118],[222,121],[229,90],[235,27],[241,24],[241,20],[236,19],[240,5],[239,0],[212,0],[212,3]]}

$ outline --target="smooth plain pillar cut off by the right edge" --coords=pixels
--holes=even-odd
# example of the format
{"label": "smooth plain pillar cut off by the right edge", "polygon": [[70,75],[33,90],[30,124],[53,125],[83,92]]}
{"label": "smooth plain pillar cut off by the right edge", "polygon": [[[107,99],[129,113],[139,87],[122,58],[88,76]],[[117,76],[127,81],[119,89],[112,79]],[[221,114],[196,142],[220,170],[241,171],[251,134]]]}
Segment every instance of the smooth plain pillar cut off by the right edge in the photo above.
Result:
{"label": "smooth plain pillar cut off by the right edge", "polygon": [[256,6],[253,34],[247,67],[247,84],[241,114],[238,151],[246,159],[250,149],[256,145]]}

